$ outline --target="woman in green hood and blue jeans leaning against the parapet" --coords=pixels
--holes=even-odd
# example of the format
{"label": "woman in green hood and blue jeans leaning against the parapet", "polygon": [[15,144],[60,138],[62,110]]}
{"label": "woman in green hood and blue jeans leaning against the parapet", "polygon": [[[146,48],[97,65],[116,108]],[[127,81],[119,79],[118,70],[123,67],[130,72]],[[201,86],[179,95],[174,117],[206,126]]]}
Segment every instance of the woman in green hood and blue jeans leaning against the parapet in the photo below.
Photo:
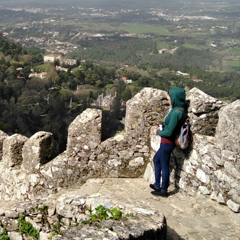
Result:
{"label": "woman in green hood and blue jeans leaning against the parapet", "polygon": [[[180,130],[187,115],[185,109],[186,93],[183,88],[170,89],[167,98],[172,108],[165,117],[163,128],[158,127],[155,130],[155,133],[161,136],[161,145],[153,158],[155,183],[150,184],[150,187],[154,189],[151,193],[162,197],[168,197],[170,156],[175,148],[176,133]],[[161,184],[160,179],[162,180]]]}

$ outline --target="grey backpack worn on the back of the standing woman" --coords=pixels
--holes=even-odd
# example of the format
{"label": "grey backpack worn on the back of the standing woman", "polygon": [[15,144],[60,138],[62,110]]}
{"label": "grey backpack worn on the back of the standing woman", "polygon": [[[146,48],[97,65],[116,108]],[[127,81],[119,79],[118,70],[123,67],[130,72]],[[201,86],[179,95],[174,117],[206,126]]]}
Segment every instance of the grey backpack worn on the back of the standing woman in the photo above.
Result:
{"label": "grey backpack worn on the back of the standing woman", "polygon": [[189,144],[190,144],[190,123],[189,118],[187,118],[176,135],[175,145],[178,148],[186,149],[189,146]]}

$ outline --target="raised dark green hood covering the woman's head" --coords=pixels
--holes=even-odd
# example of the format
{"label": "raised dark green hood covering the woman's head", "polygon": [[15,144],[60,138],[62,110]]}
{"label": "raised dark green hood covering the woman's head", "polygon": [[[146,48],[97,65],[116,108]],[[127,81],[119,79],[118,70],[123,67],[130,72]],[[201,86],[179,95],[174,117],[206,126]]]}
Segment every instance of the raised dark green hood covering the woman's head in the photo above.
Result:
{"label": "raised dark green hood covering the woman's head", "polygon": [[185,107],[186,92],[184,88],[175,87],[169,90],[172,107]]}

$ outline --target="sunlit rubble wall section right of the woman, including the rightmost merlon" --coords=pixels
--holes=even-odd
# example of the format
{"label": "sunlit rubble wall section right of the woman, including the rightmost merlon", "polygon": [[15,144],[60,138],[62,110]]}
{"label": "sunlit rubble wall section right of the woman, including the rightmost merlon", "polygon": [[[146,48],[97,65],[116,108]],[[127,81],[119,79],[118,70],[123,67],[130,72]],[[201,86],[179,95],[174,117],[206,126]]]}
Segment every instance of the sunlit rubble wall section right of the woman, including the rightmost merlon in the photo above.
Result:
{"label": "sunlit rubble wall section right of the woman, including the rightmost merlon", "polygon": [[[240,211],[240,100],[218,112],[214,137],[194,135],[193,150],[181,167],[179,186],[188,193],[202,193]],[[177,154],[175,159],[177,160]],[[180,160],[181,161],[181,160]]]}

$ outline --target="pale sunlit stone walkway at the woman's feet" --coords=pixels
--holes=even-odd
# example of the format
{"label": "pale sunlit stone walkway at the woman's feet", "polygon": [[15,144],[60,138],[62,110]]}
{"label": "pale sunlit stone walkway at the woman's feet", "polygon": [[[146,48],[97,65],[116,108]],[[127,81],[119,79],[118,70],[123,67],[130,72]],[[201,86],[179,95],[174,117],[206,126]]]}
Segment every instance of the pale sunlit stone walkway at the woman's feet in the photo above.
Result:
{"label": "pale sunlit stone walkway at the woman's feet", "polygon": [[125,199],[126,204],[128,199],[135,199],[155,206],[167,219],[168,240],[240,240],[240,214],[202,195],[191,197],[172,191],[168,198],[156,197],[141,178],[92,179],[81,187],[81,192],[110,195],[120,202]]}

